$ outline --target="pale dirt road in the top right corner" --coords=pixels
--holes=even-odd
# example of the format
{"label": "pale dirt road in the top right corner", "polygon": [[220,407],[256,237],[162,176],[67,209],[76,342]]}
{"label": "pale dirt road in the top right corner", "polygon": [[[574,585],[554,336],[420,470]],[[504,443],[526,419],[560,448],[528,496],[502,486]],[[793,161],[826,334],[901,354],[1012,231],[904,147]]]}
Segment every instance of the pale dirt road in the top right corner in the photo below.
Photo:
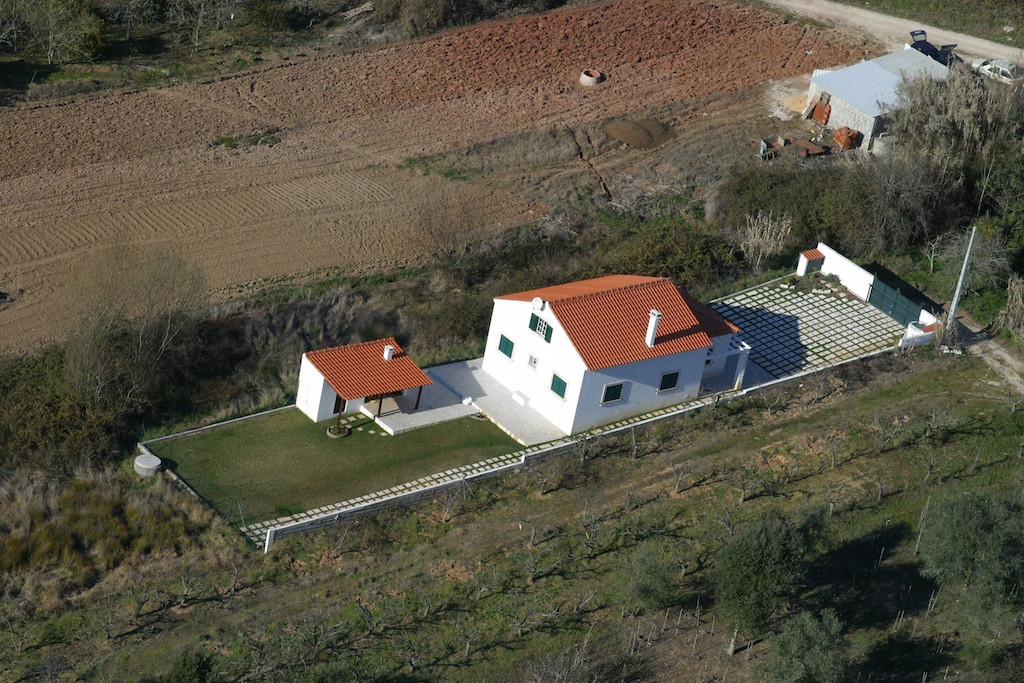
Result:
{"label": "pale dirt road in the top right corner", "polygon": [[[1009,41],[1008,44],[999,44],[911,19],[880,14],[862,7],[828,0],[765,0],[765,3],[800,16],[863,34],[892,49],[899,49],[907,43],[910,40],[910,31],[924,29],[928,32],[929,42],[933,45],[955,43],[956,51],[967,61],[970,61],[969,57],[1001,57],[1012,61],[1024,61],[1021,46],[1010,44]],[[1008,34],[1008,38],[1012,39],[1024,27],[1016,29],[1017,31]]]}

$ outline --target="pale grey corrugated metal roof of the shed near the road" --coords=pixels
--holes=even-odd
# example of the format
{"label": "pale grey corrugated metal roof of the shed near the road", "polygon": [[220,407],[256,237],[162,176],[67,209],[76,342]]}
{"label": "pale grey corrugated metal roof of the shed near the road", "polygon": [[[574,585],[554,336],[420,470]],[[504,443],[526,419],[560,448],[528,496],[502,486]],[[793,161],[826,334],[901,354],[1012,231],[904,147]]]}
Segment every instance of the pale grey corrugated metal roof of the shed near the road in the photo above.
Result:
{"label": "pale grey corrugated metal roof of the shed near the road", "polygon": [[948,73],[948,69],[931,57],[906,48],[839,71],[815,74],[811,81],[834,97],[877,117],[896,103],[897,87],[903,75],[944,79]]}

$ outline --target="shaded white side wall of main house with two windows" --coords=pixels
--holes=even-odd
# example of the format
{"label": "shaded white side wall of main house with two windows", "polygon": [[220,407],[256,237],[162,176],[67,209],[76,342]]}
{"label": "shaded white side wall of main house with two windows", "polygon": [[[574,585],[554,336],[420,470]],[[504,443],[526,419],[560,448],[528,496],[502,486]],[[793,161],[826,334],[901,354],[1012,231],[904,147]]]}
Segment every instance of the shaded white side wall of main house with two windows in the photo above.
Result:
{"label": "shaded white side wall of main house with two windows", "polygon": [[[643,415],[681,403],[700,391],[706,349],[648,358],[626,366],[587,372],[583,379],[575,416],[568,433],[593,429],[617,420]],[[658,392],[662,375],[679,373],[679,383],[670,391]],[[624,382],[623,397],[601,403],[604,387]]]}

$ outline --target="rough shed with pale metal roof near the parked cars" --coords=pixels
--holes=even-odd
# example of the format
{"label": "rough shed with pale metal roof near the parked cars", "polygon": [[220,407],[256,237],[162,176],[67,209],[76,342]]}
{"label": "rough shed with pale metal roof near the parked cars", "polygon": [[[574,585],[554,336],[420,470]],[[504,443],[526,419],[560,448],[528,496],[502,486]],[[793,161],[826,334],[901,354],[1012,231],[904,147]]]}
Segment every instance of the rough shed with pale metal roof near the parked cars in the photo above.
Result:
{"label": "rough shed with pale metal roof near the parked cars", "polygon": [[807,92],[807,109],[823,102],[831,108],[827,126],[853,128],[863,134],[862,147],[871,148],[883,132],[884,118],[898,99],[900,79],[945,79],[949,70],[910,47],[836,71],[815,70]]}

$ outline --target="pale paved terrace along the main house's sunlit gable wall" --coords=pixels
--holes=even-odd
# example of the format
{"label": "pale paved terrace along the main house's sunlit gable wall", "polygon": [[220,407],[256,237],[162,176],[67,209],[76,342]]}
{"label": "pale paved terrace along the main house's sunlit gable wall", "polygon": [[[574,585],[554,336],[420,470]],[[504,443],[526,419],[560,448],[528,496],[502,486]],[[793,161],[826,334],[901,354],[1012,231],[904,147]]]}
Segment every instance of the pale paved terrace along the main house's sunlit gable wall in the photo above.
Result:
{"label": "pale paved terrace along the main house's sunlit gable wall", "polygon": [[437,366],[427,372],[435,382],[458,394],[460,400],[471,399],[474,413],[483,413],[523,445],[546,443],[565,436],[532,408],[513,400],[512,391],[483,372],[480,368],[482,364],[483,358],[473,358]]}

